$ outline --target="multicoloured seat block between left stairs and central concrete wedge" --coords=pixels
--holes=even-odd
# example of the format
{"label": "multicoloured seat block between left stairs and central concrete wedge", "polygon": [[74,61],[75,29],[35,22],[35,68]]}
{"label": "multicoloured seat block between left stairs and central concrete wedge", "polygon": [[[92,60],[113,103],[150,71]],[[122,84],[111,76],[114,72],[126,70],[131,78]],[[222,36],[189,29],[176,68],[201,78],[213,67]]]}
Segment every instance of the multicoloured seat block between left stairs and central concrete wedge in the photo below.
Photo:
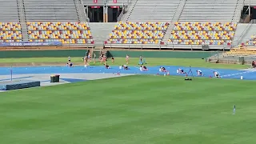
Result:
{"label": "multicoloured seat block between left stairs and central concrete wedge", "polygon": [[27,22],[27,27],[30,42],[94,43],[86,22]]}

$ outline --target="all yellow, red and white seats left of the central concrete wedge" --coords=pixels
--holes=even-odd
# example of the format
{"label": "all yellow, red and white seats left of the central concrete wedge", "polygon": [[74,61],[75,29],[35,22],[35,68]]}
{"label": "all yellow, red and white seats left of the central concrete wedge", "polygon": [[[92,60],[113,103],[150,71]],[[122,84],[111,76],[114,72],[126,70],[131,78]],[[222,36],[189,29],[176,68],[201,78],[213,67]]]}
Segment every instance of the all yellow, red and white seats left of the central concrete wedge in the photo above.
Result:
{"label": "all yellow, red and white seats left of the central concrete wedge", "polygon": [[[94,43],[86,22],[27,22],[30,42]],[[21,42],[18,22],[0,22],[0,42]]]}

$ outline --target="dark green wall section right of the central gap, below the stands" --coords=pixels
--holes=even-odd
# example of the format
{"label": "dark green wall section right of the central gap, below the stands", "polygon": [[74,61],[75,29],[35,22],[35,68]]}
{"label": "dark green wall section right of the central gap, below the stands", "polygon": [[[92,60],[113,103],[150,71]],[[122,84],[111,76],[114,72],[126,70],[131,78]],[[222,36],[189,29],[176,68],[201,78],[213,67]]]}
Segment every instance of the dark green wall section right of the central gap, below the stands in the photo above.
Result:
{"label": "dark green wall section right of the central gap, below the stands", "polygon": [[201,52],[201,51],[126,51],[126,50],[109,50],[108,57],[126,57],[128,54],[131,58],[138,58],[140,55],[146,58],[208,58],[218,52]]}

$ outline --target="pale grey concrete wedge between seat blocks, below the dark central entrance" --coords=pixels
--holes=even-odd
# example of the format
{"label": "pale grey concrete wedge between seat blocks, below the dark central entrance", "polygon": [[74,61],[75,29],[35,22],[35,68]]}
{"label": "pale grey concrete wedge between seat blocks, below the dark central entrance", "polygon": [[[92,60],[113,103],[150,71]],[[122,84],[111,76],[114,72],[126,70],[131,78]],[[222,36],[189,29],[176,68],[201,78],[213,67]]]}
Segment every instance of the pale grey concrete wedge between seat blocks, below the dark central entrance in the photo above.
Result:
{"label": "pale grey concrete wedge between seat blocks, below the dark central entrance", "polygon": [[109,34],[116,25],[115,22],[89,22],[91,33],[93,34],[95,46],[103,46]]}

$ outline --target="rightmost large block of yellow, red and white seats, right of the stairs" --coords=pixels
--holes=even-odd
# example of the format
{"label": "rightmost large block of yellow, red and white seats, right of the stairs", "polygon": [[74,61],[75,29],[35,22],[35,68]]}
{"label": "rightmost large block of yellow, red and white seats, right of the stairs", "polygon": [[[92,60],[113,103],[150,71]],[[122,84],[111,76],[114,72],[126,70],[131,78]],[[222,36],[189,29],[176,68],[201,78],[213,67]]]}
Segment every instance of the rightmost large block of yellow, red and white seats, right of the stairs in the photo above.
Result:
{"label": "rightmost large block of yellow, red and white seats, right of the stairs", "polygon": [[229,45],[236,27],[232,22],[175,22],[168,44]]}

